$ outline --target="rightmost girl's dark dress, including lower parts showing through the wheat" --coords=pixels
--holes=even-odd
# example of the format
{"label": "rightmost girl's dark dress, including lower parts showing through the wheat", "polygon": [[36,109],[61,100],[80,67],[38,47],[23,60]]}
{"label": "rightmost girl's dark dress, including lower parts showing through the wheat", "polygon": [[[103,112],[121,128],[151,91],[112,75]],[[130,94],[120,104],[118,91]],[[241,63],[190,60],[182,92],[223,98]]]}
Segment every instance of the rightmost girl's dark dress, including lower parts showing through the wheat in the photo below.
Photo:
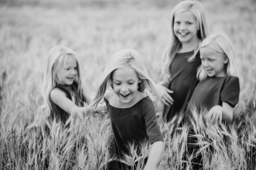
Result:
{"label": "rightmost girl's dark dress, including lower parts showing through the wheat", "polygon": [[[200,81],[194,89],[194,92],[190,98],[189,104],[195,104],[195,107],[200,112],[202,107],[207,109],[212,108],[215,105],[222,106],[222,102],[225,101],[231,107],[235,107],[239,101],[239,79],[238,77],[226,76],[226,77],[207,77],[205,80]],[[191,111],[187,108],[185,121],[189,122],[191,117]],[[193,137],[195,132],[193,128],[190,129],[188,134],[188,155],[191,155],[194,150],[199,150],[200,146],[195,145],[198,142],[197,137]],[[202,169],[202,156],[198,155],[191,162],[193,169]]]}

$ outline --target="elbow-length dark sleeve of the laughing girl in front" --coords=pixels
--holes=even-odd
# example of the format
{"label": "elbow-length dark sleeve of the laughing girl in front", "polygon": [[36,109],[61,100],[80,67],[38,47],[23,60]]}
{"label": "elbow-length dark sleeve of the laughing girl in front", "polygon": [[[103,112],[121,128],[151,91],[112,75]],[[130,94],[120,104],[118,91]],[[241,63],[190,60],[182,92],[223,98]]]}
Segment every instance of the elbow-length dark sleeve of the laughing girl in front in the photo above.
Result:
{"label": "elbow-length dark sleeve of the laughing girl in front", "polygon": [[162,141],[163,136],[160,132],[160,128],[157,123],[155,107],[150,98],[148,98],[148,102],[146,102],[142,106],[141,113],[145,119],[146,132],[147,132],[147,136],[149,138],[150,144],[156,141]]}

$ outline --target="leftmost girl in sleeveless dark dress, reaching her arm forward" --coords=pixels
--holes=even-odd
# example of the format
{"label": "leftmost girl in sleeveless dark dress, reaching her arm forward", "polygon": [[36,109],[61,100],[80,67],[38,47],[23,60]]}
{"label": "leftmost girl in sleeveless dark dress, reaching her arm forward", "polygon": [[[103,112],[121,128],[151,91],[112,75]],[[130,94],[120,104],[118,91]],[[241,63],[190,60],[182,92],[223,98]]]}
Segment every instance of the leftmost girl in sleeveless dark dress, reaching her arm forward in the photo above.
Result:
{"label": "leftmost girl in sleeveless dark dress, reaching her arm forward", "polygon": [[[83,117],[87,107],[83,103],[89,94],[81,83],[80,65],[76,53],[64,46],[55,46],[48,53],[48,62],[42,83],[42,96],[50,116],[66,122],[70,114]],[[104,111],[106,106],[99,106]]]}

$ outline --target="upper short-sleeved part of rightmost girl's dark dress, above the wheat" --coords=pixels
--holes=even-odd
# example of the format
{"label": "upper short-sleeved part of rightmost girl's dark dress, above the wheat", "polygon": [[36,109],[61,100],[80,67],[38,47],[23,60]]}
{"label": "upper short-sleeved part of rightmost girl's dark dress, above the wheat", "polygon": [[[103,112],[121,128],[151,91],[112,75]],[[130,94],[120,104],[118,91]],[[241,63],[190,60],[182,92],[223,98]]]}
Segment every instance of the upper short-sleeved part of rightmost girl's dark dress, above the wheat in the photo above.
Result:
{"label": "upper short-sleeved part of rightmost girl's dark dress, above the wheat", "polygon": [[[189,104],[195,104],[196,108],[207,107],[210,109],[215,105],[222,106],[222,101],[235,107],[239,101],[239,78],[233,76],[207,77],[200,81],[190,98]],[[186,111],[186,119],[190,111]]]}

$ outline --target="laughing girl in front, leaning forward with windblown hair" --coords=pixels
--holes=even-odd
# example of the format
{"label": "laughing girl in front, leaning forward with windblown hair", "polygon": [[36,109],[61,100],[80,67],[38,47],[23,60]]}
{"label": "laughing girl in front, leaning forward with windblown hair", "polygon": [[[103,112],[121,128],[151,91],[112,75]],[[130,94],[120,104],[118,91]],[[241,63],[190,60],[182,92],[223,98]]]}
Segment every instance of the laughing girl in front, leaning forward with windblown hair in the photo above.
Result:
{"label": "laughing girl in front, leaning forward with windblown hair", "polygon": [[[108,85],[111,89],[107,88]],[[162,134],[149,96],[152,99],[160,97],[140,54],[136,50],[124,49],[109,60],[90,104],[95,109],[104,97],[114,134],[115,156],[122,158],[122,153],[127,154],[129,142],[138,143],[145,137],[149,138],[151,150],[144,169],[156,168],[163,149]],[[120,169],[121,165],[115,162],[109,169]]]}

